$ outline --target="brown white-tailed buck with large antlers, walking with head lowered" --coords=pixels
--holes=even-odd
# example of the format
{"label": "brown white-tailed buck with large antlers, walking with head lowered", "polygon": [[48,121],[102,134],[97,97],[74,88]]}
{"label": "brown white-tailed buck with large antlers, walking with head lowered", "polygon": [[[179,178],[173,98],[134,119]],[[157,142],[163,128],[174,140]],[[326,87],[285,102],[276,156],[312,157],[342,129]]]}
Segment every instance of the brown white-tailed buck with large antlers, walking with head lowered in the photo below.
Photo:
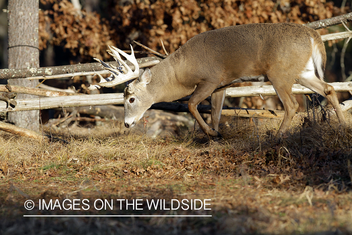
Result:
{"label": "brown white-tailed buck with large antlers, walking with head lowered", "polygon": [[[130,45],[131,46],[131,45]],[[222,138],[219,120],[225,89],[235,82],[270,81],[284,107],[284,118],[275,136],[282,136],[298,109],[292,93],[294,83],[325,97],[340,123],[345,122],[333,86],[324,81],[326,51],[315,30],[295,23],[256,23],[228,26],[202,32],[152,68],[139,69],[131,55],[110,47],[119,63],[88,89],[112,87],[126,82],[124,89],[125,126],[131,128],[152,104],[170,102],[191,95],[188,109],[201,130]],[[124,56],[134,71],[122,60]],[[197,105],[211,96],[211,126],[197,111]]]}

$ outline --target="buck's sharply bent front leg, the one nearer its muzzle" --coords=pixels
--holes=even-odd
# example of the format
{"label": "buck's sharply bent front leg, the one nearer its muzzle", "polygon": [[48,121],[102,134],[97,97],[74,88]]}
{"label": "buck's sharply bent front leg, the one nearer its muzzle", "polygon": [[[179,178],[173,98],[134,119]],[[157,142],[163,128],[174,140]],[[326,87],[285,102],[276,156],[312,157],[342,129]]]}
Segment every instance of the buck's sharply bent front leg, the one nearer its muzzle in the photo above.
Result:
{"label": "buck's sharply bent front leg, the one nearer its muzzle", "polygon": [[209,84],[207,85],[198,85],[197,88],[195,89],[192,97],[188,101],[188,109],[194,116],[194,118],[197,120],[200,128],[202,131],[212,137],[217,137],[217,138],[222,138],[221,134],[210,128],[203,120],[203,118],[200,116],[198,110],[197,110],[197,105],[206,99],[212,92],[216,86],[211,86]]}

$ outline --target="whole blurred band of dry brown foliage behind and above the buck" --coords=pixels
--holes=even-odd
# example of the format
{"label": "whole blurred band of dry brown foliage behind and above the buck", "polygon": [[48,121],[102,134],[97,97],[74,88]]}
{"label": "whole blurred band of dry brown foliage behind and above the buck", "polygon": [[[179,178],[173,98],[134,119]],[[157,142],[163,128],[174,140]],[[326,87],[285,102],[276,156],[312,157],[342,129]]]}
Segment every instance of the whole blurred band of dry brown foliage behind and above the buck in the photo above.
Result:
{"label": "whole blurred band of dry brown foliage behind and above the buck", "polygon": [[108,18],[101,19],[84,9],[78,13],[68,0],[41,2],[52,7],[39,14],[40,48],[47,43],[61,45],[84,60],[108,58],[107,45],[129,48],[133,40],[162,51],[162,39],[173,52],[207,30],[248,23],[303,24],[348,11],[319,0],[137,0],[109,5],[103,10]]}

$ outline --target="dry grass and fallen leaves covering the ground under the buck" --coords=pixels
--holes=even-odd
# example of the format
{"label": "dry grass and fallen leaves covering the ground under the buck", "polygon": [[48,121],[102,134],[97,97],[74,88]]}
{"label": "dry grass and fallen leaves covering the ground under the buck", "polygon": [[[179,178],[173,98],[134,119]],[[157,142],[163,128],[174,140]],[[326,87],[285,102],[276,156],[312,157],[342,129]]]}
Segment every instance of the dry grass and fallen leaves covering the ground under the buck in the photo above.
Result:
{"label": "dry grass and fallen leaves covering the ground under the buck", "polygon": [[[115,135],[112,123],[105,124],[105,137],[67,134],[67,142],[2,134],[0,233],[351,234],[352,129],[319,113],[300,120],[277,139],[276,124],[234,119],[221,127],[219,142],[199,130],[177,137]],[[165,199],[169,206],[171,199],[211,199],[212,210],[23,207],[27,199],[83,198]],[[68,214],[212,217],[23,217]]]}

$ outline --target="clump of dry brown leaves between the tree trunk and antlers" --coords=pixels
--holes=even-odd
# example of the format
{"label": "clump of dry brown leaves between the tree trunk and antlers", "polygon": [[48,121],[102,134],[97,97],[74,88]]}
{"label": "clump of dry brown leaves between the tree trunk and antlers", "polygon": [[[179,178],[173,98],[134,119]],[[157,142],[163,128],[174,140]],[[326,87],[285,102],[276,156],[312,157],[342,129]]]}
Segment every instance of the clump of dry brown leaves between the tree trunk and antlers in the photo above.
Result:
{"label": "clump of dry brown leaves between the tree trunk and antlers", "polygon": [[111,40],[114,31],[109,24],[95,12],[78,12],[67,0],[55,1],[51,10],[40,11],[39,28],[41,49],[50,42],[83,60],[110,57],[106,50],[114,44]]}

